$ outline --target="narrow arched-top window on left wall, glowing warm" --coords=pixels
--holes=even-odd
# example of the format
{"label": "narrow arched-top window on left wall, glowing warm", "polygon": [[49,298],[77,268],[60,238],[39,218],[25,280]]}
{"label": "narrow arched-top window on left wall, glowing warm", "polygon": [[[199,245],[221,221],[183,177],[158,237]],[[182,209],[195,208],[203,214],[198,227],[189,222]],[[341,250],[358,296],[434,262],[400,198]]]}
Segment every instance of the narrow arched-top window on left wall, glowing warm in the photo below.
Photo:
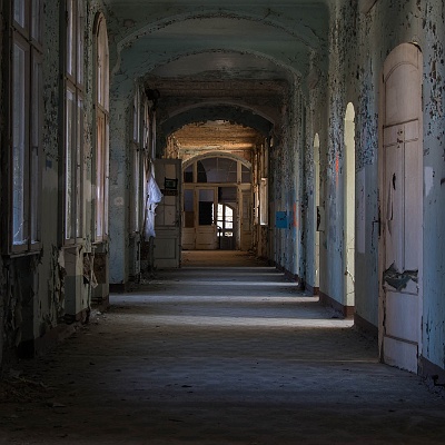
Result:
{"label": "narrow arched-top window on left wall, glowing warm", "polygon": [[96,20],[96,241],[108,235],[109,53],[105,17]]}

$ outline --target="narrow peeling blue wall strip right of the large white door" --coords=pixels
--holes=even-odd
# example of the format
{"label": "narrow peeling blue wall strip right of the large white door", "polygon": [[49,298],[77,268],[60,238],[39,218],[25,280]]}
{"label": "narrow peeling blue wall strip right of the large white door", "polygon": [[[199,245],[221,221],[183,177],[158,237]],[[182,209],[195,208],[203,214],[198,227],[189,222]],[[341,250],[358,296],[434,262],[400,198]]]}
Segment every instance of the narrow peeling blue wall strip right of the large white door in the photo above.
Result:
{"label": "narrow peeling blue wall strip right of the large white door", "polygon": [[424,357],[445,369],[445,4],[422,1],[424,56]]}

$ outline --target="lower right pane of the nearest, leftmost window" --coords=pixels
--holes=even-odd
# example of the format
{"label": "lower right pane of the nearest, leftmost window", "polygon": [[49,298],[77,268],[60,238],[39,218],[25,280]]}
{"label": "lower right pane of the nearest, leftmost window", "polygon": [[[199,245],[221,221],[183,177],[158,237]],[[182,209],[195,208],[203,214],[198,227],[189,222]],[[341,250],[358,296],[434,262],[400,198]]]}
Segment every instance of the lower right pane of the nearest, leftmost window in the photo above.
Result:
{"label": "lower right pane of the nearest, leftmost window", "polygon": [[[34,55],[36,56],[36,55]],[[34,57],[32,65],[32,113],[31,113],[31,159],[30,159],[30,190],[31,190],[31,243],[39,240],[39,147],[41,131],[41,93],[42,93],[42,65]]]}

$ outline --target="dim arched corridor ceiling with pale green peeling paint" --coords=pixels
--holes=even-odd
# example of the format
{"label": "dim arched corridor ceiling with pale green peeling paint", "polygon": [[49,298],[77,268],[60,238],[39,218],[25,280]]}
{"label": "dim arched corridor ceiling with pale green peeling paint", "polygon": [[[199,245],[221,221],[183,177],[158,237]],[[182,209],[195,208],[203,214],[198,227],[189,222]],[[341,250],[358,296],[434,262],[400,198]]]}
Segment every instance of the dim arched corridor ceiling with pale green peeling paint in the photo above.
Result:
{"label": "dim arched corridor ceiling with pale green peeling paint", "polygon": [[240,123],[250,140],[249,127],[278,123],[289,86],[324,70],[333,1],[105,0],[111,95],[129,102],[141,79],[160,91],[167,136],[181,116]]}

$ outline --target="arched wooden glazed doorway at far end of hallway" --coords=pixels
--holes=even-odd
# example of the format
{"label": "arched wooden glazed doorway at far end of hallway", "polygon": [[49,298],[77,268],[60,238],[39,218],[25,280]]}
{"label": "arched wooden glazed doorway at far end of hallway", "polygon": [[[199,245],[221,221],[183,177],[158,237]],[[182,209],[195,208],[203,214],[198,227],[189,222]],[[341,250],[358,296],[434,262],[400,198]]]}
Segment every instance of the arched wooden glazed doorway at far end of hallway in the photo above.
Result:
{"label": "arched wooden glazed doorway at far end of hallway", "polygon": [[184,162],[182,172],[182,249],[250,249],[250,162],[208,154]]}

